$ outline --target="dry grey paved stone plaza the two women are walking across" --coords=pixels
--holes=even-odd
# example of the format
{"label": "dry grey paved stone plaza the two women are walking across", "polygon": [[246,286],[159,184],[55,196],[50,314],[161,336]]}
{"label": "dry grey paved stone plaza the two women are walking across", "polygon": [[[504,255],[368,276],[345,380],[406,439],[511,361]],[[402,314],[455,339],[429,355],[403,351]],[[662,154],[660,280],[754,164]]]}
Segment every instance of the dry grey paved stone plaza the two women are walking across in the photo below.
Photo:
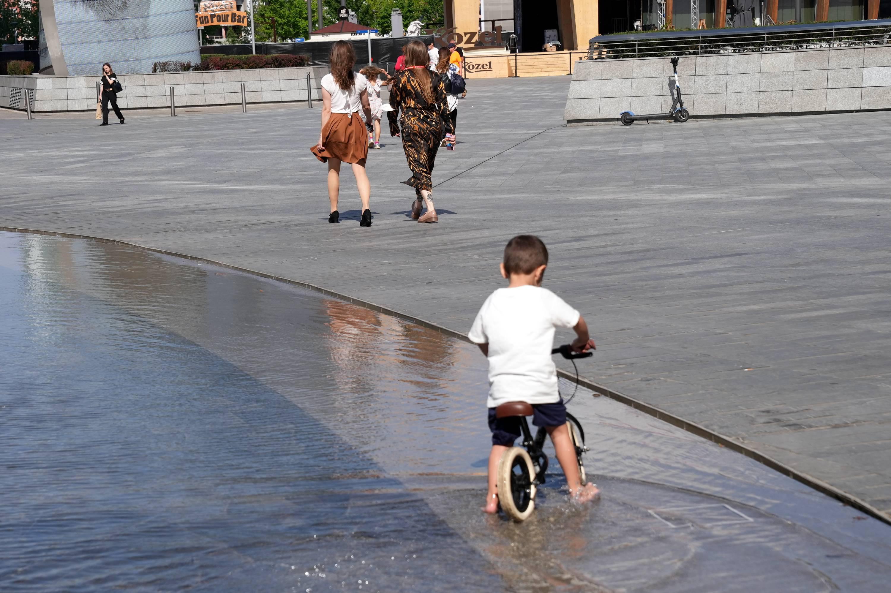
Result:
{"label": "dry grey paved stone plaza the two women are walking across", "polygon": [[408,217],[384,138],[370,229],[348,172],[325,222],[318,109],[107,128],[4,111],[0,226],[203,256],[462,332],[505,241],[533,232],[546,286],[598,342],[586,377],[891,516],[891,113],[567,128],[568,84],[469,82],[435,225]]}

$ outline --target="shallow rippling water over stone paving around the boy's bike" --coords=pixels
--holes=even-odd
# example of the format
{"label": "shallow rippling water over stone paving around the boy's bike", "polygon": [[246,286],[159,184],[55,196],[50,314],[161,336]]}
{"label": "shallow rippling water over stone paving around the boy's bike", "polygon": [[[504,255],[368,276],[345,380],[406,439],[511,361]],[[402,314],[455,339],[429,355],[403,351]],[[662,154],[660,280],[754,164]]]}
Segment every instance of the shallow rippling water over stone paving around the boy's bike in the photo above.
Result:
{"label": "shallow rippling water over stone paving around the boy's bike", "polygon": [[[891,529],[579,390],[559,466],[479,511],[472,345],[273,281],[0,232],[4,591],[882,591]],[[571,386],[561,386],[571,393]]]}

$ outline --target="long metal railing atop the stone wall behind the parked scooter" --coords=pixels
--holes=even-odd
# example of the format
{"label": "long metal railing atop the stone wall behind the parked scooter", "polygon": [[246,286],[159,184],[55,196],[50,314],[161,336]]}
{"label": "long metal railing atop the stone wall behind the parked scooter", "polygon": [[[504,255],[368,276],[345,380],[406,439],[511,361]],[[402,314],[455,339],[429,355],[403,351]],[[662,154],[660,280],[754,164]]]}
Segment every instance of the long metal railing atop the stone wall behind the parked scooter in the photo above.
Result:
{"label": "long metal railing atop the stone wall behind the parked scooter", "polygon": [[[610,38],[611,37],[611,38]],[[709,53],[789,52],[801,49],[891,44],[891,20],[822,25],[668,31],[601,35],[591,40],[589,60]]]}

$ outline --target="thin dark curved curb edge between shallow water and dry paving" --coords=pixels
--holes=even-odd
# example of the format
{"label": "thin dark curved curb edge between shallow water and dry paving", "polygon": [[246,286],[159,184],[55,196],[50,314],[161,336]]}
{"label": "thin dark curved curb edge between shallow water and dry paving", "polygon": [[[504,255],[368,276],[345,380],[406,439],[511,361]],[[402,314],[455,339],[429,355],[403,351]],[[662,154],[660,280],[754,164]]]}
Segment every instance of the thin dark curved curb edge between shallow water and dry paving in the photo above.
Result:
{"label": "thin dark curved curb edge between shallow water and dry paving", "polygon": [[[244,273],[248,273],[252,276],[266,278],[267,280],[276,280],[276,281],[282,282],[284,284],[289,284],[290,286],[296,286],[298,288],[305,288],[307,290],[312,290],[313,292],[321,293],[325,296],[332,296],[332,297],[338,298],[342,301],[346,301],[347,303],[350,303],[352,305],[362,306],[366,309],[370,309],[377,313],[384,313],[385,315],[389,315],[391,317],[396,317],[397,319],[401,319],[403,321],[409,321],[411,323],[420,325],[421,327],[424,327],[427,329],[433,329],[435,331],[438,331],[439,333],[445,334],[446,336],[455,337],[457,339],[462,340],[463,342],[470,343],[470,338],[467,337],[466,334],[457,332],[454,329],[448,329],[445,326],[437,325],[436,323],[430,323],[429,321],[424,321],[422,319],[413,317],[412,315],[408,315],[406,313],[399,313],[398,311],[394,311],[393,309],[388,309],[387,307],[375,305],[374,303],[371,303],[369,301],[364,301],[362,299],[355,298],[353,296],[343,295],[343,294],[340,294],[339,292],[335,292],[335,291],[329,290],[327,288],[315,286],[315,284],[309,284],[308,282],[301,282],[299,280],[290,280],[288,278],[284,278],[282,276],[276,276],[274,274],[269,274],[266,272],[257,272],[256,270],[250,270],[249,268],[242,268],[237,265],[224,264],[223,262],[217,262],[215,260],[208,259],[206,257],[189,256],[186,254],[177,253],[176,251],[168,251],[166,249],[145,247],[143,245],[137,245],[135,243],[130,243],[127,241],[115,240],[115,239],[105,239],[103,237],[94,237],[92,235],[81,235],[81,234],[70,233],[70,232],[39,231],[36,229],[19,229],[19,228],[2,226],[2,225],[0,225],[0,231],[27,232],[27,233],[31,233],[31,234],[37,234],[37,235],[65,237],[67,239],[94,240],[94,241],[99,241],[102,243],[110,243],[112,245],[121,245],[121,246],[129,247],[129,248],[143,249],[144,251],[150,251],[151,253],[158,253],[158,254],[161,254],[164,256],[180,257],[183,259],[191,260],[193,262],[201,262],[203,264],[217,265],[219,267],[227,268],[229,270],[234,270],[236,272],[244,272]],[[560,377],[565,378],[569,381],[576,380],[576,377],[574,375],[568,373],[565,370],[558,369],[557,374]],[[700,426],[699,424],[690,422],[688,420],[684,420],[683,418],[681,418],[679,416],[674,416],[674,414],[671,414],[664,410],[659,410],[657,407],[652,406],[649,403],[641,402],[640,400],[636,400],[633,397],[630,397],[625,394],[620,394],[617,391],[613,391],[612,389],[609,389],[608,387],[598,385],[589,379],[586,379],[583,377],[578,377],[577,381],[578,381],[578,385],[583,386],[586,389],[590,389],[591,391],[593,391],[595,393],[605,395],[606,397],[609,397],[609,399],[616,400],[617,402],[624,403],[626,406],[630,406],[631,408],[634,408],[634,410],[640,410],[646,414],[649,414],[650,416],[653,416],[653,417],[658,418],[664,422],[667,422],[668,424],[682,428],[683,430],[686,430],[687,432],[692,433],[693,435],[697,435],[699,437],[707,439],[708,441],[711,441],[712,443],[717,443],[719,445],[722,445],[723,447],[726,447],[727,449],[741,453],[741,454],[745,455],[746,457],[748,457],[749,459],[754,459],[758,463],[761,463],[766,467],[770,467],[772,470],[779,472],[782,475],[787,475],[790,478],[792,478],[793,480],[796,480],[797,482],[803,483],[806,486],[813,488],[813,490],[822,492],[823,494],[830,496],[836,500],[839,500],[840,502],[842,502],[850,507],[856,508],[857,510],[861,511],[862,513],[865,513],[866,515],[869,515],[876,519],[879,519],[879,521],[881,521],[882,523],[891,525],[891,516],[887,516],[885,513],[880,511],[878,508],[873,507],[868,502],[865,502],[864,500],[860,500],[857,497],[852,496],[851,494],[848,494],[845,491],[841,491],[838,488],[836,488],[835,486],[832,486],[829,483],[825,483],[822,480],[818,480],[817,478],[815,478],[811,475],[807,475],[804,472],[799,472],[799,471],[793,469],[792,467],[786,466],[786,465],[782,464],[781,462],[777,461],[776,459],[772,459],[772,458],[764,455],[763,453],[759,453],[758,451],[751,449],[746,444],[741,443],[739,440],[734,440],[730,437],[719,435],[718,433],[715,433],[715,432],[709,430],[705,426]]]}

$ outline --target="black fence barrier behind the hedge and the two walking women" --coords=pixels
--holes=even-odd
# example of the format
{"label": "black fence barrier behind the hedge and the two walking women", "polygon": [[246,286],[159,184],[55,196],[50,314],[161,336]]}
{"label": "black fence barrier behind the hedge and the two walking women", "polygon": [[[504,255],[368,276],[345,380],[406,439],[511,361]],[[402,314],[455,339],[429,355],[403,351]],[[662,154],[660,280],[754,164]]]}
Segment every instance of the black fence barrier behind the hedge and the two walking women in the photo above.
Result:
{"label": "black fence barrier behind the hedge and the two walking women", "polygon": [[[384,37],[382,39],[372,38],[372,64],[380,68],[393,71],[396,65],[396,59],[402,55],[402,48],[413,39],[420,39],[424,45],[429,45],[433,41],[432,35],[423,35],[421,37]],[[368,64],[368,38],[356,36],[351,39],[353,48],[356,50],[356,69],[361,69]],[[257,44],[257,53],[263,55],[274,55],[275,53],[290,53],[291,55],[305,55],[309,58],[309,63],[313,66],[327,66],[328,53],[331,52],[333,41],[312,41],[309,43],[296,44]],[[201,45],[201,53],[223,53],[225,55],[249,55],[250,45]]]}

